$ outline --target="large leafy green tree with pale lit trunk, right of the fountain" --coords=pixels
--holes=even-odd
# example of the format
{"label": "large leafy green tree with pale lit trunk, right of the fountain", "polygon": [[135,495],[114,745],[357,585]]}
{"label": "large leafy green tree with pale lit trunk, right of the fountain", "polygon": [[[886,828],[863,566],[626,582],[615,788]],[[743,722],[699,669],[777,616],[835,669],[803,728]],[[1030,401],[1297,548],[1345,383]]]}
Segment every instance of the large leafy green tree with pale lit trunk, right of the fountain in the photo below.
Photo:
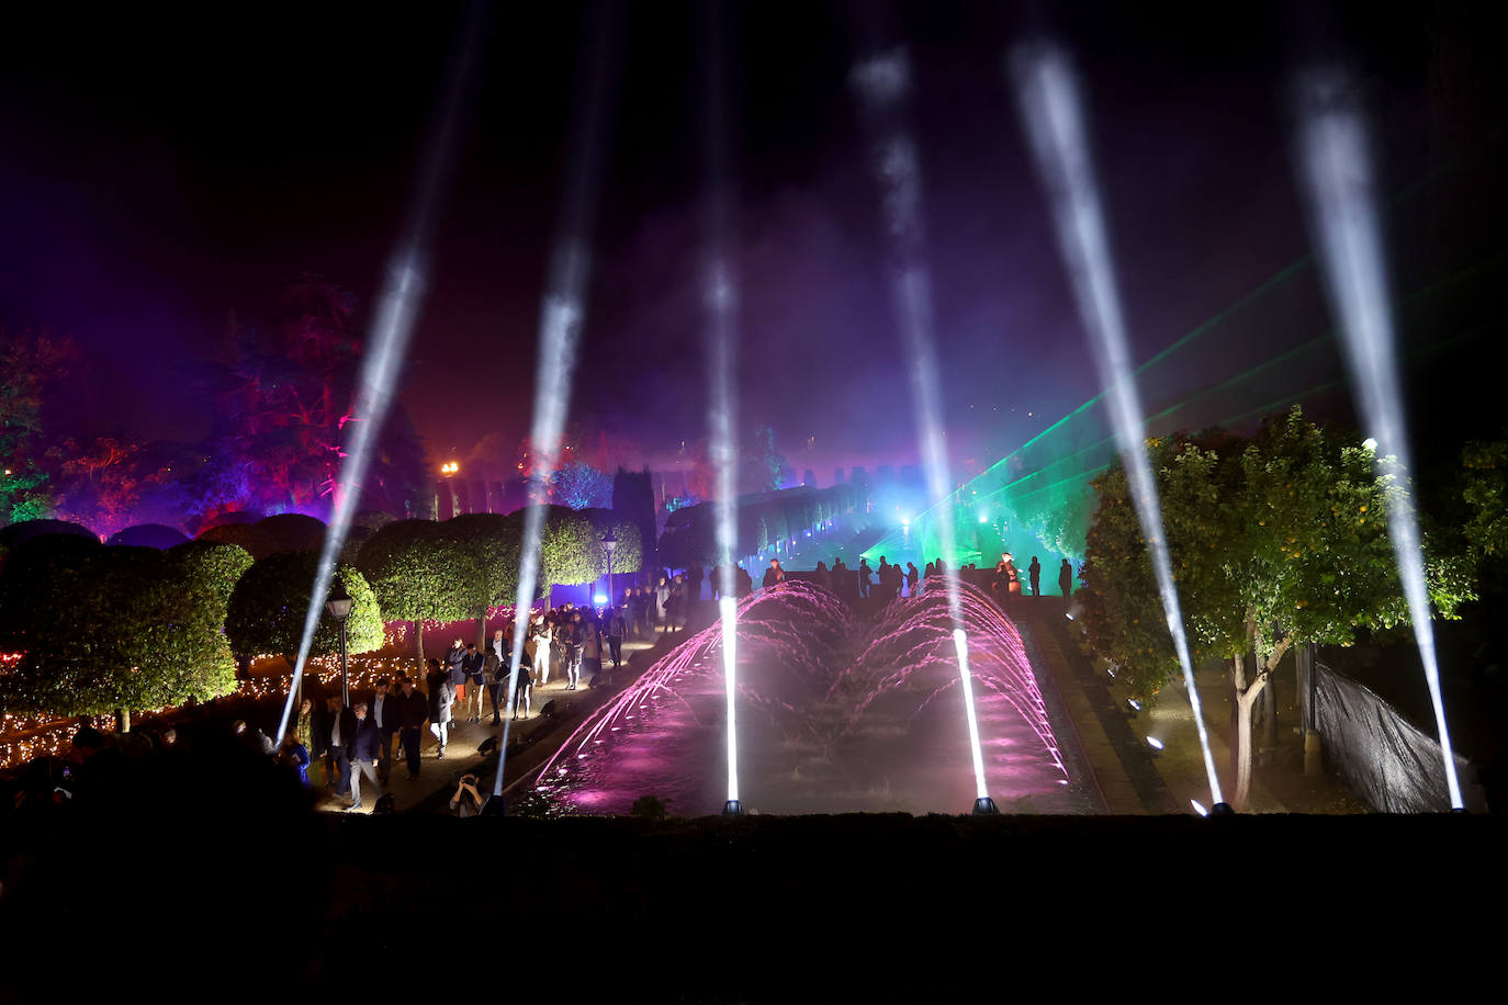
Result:
{"label": "large leafy green tree with pale lit trunk, right of the fountain", "polygon": [[[1252,780],[1252,711],[1294,645],[1351,645],[1408,618],[1387,536],[1407,491],[1377,475],[1354,435],[1327,434],[1295,407],[1252,440],[1220,431],[1149,440],[1163,521],[1194,661],[1229,660],[1237,737],[1232,805]],[[1125,473],[1095,481],[1099,509],[1084,565],[1086,630],[1151,698],[1176,672]],[[1469,583],[1430,556],[1436,613],[1454,618]]]}

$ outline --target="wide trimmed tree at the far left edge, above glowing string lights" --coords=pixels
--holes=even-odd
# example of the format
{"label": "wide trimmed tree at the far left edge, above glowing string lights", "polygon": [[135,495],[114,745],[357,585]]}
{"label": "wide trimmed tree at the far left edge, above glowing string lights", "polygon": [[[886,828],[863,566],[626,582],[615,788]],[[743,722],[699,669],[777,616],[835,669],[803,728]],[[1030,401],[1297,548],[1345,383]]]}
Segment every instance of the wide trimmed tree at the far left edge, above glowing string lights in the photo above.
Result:
{"label": "wide trimmed tree at the far left edge, above glowing string lights", "polygon": [[0,678],[0,704],[116,711],[130,729],[131,710],[228,695],[235,664],[222,627],[249,567],[249,554],[217,544],[157,551],[50,536],[18,545],[0,577],[0,645],[23,658]]}

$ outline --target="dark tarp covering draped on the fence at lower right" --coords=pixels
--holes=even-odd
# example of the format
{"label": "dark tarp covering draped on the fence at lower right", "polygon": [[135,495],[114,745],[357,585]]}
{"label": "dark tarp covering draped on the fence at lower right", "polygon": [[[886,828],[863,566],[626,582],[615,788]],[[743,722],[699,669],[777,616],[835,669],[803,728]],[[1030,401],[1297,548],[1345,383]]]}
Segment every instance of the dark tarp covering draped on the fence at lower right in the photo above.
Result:
{"label": "dark tarp covering draped on the fence at lower right", "polygon": [[[1326,761],[1368,806],[1384,814],[1449,812],[1440,744],[1410,725],[1375,693],[1323,663],[1313,664],[1315,729]],[[1455,755],[1466,808],[1487,800],[1470,762]]]}

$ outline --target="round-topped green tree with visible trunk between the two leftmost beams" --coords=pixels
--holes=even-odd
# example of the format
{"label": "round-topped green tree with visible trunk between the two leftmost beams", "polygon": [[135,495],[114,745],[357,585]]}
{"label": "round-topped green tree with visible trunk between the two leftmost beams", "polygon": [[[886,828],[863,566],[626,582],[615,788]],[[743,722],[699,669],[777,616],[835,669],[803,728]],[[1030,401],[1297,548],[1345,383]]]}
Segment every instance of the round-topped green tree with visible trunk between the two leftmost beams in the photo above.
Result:
{"label": "round-topped green tree with visible trunk between the two leftmost beams", "polygon": [[424,671],[424,622],[472,613],[457,535],[433,520],[400,520],[379,529],[357,554],[383,618],[413,622],[415,655]]}

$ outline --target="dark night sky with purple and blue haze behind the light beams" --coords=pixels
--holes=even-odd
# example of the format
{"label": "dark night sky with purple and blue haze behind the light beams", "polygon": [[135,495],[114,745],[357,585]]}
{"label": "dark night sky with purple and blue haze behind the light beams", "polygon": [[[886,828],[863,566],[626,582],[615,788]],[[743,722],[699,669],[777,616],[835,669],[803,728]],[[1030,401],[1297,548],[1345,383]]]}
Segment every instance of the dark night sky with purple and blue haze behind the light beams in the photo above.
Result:
{"label": "dark night sky with purple and blue haze behind the light beams", "polygon": [[[1309,6],[1045,5],[1047,20],[985,3],[733,5],[743,422],[771,423],[822,484],[834,464],[917,457],[846,83],[861,54],[905,44],[914,60],[950,441],[955,460],[988,464],[1096,392],[1001,75],[1033,27],[1086,74],[1137,359],[1307,252],[1286,98],[1315,53],[1365,81],[1389,190],[1502,121],[1508,89],[1467,6]],[[0,15],[0,324],[75,336],[93,372],[80,423],[199,438],[228,312],[256,324],[306,270],[372,303],[463,20],[449,5],[377,11]],[[481,455],[511,460],[528,431],[538,303],[600,17],[511,5],[486,23],[401,395],[436,461],[477,455],[484,437]],[[573,417],[656,464],[704,435],[707,21],[706,5],[621,5],[603,50]]]}

